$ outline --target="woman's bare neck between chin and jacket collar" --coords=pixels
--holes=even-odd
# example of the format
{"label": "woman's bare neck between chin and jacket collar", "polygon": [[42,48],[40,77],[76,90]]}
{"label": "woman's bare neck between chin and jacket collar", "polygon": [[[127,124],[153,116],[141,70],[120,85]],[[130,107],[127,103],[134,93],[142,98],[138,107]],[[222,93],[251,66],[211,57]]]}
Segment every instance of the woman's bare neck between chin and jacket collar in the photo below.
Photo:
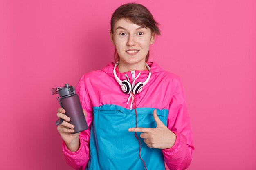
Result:
{"label": "woman's bare neck between chin and jacket collar", "polygon": [[120,60],[118,64],[118,70],[119,73],[124,73],[132,70],[148,70],[148,68],[146,67],[145,61],[136,64],[124,64],[124,62]]}

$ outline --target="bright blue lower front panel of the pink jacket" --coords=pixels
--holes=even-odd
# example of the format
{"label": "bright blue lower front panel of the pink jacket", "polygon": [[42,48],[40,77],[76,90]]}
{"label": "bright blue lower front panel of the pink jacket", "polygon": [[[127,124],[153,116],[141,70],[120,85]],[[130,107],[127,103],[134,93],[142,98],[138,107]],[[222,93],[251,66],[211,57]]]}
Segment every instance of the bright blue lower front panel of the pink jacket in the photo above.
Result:
{"label": "bright blue lower front panel of the pink jacket", "polygon": [[[155,128],[154,108],[137,108],[138,127]],[[168,110],[157,109],[159,119],[167,126]],[[145,170],[139,158],[139,142],[135,132],[135,109],[117,105],[94,107],[91,125],[90,159],[86,170]],[[148,170],[165,170],[161,149],[149,148],[137,132],[141,142],[141,158]]]}

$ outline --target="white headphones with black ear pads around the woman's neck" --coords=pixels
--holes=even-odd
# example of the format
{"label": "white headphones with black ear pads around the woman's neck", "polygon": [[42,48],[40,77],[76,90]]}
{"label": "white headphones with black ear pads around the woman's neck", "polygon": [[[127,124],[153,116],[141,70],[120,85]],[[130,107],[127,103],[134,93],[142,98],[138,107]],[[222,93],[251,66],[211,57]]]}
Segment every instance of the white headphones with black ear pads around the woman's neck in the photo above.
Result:
{"label": "white headphones with black ear pads around the woman's neck", "polygon": [[[145,64],[146,64],[146,67],[147,67],[148,70],[149,70],[148,78],[147,78],[146,81],[143,82],[143,83],[142,83],[142,82],[137,82],[137,83],[135,84],[134,88],[132,88],[132,85],[130,84],[130,82],[129,82],[128,80],[123,80],[123,81],[121,81],[121,80],[117,77],[117,73],[116,73],[115,68],[116,68],[116,66],[117,66],[118,64],[119,64],[119,62],[117,62],[117,64],[115,64],[115,67],[114,67],[114,70],[113,70],[113,74],[114,74],[115,79],[117,80],[117,82],[118,82],[119,85],[121,86],[121,90],[122,90],[125,94],[130,94],[131,91],[132,91],[132,93],[133,93],[134,95],[140,93],[140,92],[142,91],[143,86],[145,86],[145,85],[148,83],[148,81],[149,81],[149,79],[150,79],[150,77],[151,77],[151,71],[150,71],[150,67],[148,66],[148,64],[145,63]],[[139,74],[141,74],[141,73],[139,73]],[[138,76],[137,76],[137,77],[138,77]],[[135,81],[135,79],[134,79],[133,81]]]}

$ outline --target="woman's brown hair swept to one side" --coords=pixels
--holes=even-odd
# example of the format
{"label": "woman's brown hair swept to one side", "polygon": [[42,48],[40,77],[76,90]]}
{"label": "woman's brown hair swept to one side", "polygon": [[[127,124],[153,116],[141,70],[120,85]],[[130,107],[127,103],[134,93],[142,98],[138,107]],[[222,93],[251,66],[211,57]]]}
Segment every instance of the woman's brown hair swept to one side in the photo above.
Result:
{"label": "woman's brown hair swept to one side", "polygon": [[[114,29],[115,22],[122,18],[130,20],[136,25],[150,28],[154,37],[156,35],[161,35],[161,31],[158,27],[159,23],[155,21],[150,11],[141,4],[128,3],[118,7],[111,17],[111,21],[110,21],[111,33],[114,33],[113,29]],[[148,54],[146,55],[146,62],[148,61],[148,58],[149,58],[149,51],[148,51]],[[119,61],[119,55],[117,53],[117,49],[115,49],[114,59],[115,59],[115,62]]]}

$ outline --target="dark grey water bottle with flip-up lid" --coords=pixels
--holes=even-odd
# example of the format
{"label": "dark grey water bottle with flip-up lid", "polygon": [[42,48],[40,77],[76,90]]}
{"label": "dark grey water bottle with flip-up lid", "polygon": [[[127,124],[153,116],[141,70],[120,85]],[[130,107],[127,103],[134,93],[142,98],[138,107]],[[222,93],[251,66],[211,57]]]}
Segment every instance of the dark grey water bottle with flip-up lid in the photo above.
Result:
{"label": "dark grey water bottle with flip-up lid", "polygon": [[[69,84],[65,84],[63,87],[52,88],[51,91],[53,95],[59,94],[59,97],[57,97],[58,102],[60,103],[61,108],[66,110],[65,115],[70,118],[69,123],[75,126],[74,132],[71,134],[88,129],[88,125],[83,114],[83,108],[78,95],[75,93],[75,88],[73,86],[69,86]],[[55,124],[59,125],[63,121],[64,120],[60,118]]]}

